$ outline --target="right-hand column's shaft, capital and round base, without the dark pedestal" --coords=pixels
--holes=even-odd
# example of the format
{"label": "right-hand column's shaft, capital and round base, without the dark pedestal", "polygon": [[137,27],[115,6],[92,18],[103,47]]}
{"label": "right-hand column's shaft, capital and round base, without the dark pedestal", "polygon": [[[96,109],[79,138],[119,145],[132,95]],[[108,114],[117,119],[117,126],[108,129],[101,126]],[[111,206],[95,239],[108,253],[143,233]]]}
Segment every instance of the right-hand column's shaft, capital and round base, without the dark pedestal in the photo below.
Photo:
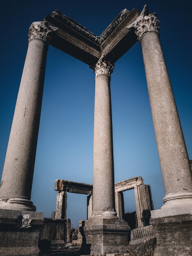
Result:
{"label": "right-hand column's shaft, capital and round base, without the dark pedestal", "polygon": [[[145,6],[134,25],[141,43],[163,184],[164,208],[192,206],[192,172],[159,41],[159,20]],[[183,208],[184,207],[184,208]],[[188,208],[188,210],[186,209]]]}

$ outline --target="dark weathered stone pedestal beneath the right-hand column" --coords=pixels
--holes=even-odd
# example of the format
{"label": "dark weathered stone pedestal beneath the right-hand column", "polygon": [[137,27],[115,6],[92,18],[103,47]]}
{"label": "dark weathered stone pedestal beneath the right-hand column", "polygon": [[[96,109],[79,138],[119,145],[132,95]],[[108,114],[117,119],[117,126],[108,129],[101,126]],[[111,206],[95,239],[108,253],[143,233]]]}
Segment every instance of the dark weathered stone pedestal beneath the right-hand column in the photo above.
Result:
{"label": "dark weathered stone pedestal beneath the right-hand column", "polygon": [[192,255],[192,214],[152,218],[150,224],[157,237],[154,256]]}

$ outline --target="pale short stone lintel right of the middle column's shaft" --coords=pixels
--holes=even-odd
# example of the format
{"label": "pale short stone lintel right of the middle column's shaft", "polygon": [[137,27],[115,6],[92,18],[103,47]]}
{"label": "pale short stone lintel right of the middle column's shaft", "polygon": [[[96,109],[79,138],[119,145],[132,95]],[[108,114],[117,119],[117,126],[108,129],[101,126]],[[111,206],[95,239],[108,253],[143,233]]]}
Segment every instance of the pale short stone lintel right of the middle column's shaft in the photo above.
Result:
{"label": "pale short stone lintel right of the middle column's shaft", "polygon": [[142,177],[133,177],[128,180],[123,180],[115,183],[115,192],[123,192],[129,189],[134,189],[135,186],[143,184]]}

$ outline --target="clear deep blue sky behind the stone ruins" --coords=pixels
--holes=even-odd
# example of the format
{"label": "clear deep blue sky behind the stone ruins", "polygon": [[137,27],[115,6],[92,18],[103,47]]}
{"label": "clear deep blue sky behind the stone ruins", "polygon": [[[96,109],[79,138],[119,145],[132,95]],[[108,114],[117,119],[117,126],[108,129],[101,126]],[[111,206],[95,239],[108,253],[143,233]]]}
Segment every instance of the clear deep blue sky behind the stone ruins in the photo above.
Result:
{"label": "clear deep blue sky behind the stone ruins", "polygon": [[[0,174],[7,150],[29,26],[54,9],[96,35],[123,9],[145,4],[157,12],[167,69],[183,134],[192,158],[191,1],[62,1],[1,2],[0,47]],[[136,43],[115,63],[111,79],[115,182],[142,176],[150,184],[155,209],[163,204],[164,188],[147,92],[143,56]],[[56,179],[92,184],[94,73],[88,65],[50,46],[31,200],[37,211],[55,210]],[[128,193],[129,192],[129,193]],[[134,211],[134,193],[125,193],[125,210]],[[68,193],[67,217],[77,226],[86,218],[86,196]]]}

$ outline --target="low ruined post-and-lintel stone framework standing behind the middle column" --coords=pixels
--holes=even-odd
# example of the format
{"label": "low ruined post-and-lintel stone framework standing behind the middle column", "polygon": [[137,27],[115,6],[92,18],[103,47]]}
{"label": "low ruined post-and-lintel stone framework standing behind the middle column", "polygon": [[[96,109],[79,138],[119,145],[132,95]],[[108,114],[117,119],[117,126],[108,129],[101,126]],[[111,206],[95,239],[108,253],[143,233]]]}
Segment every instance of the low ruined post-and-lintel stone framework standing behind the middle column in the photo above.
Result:
{"label": "low ruined post-and-lintel stone framework standing behind the middle column", "polygon": [[[143,184],[142,177],[133,177],[128,180],[115,183],[115,208],[117,216],[124,218],[123,191],[134,189],[136,201],[137,226],[149,225],[147,221],[149,213],[154,210],[150,185]],[[58,191],[55,219],[66,219],[67,216],[67,192],[87,195],[87,219],[92,216],[93,185],[69,180],[56,180],[55,190]],[[146,219],[147,217],[147,219]]]}

